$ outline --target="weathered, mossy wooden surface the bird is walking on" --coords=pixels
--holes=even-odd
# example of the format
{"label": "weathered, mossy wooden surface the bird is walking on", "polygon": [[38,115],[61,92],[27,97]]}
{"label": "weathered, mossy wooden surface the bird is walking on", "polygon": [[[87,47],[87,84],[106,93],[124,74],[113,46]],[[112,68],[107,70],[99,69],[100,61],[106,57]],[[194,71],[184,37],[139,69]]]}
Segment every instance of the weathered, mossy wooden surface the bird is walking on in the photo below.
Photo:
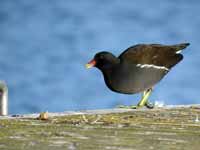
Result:
{"label": "weathered, mossy wooden surface the bird is walking on", "polygon": [[200,106],[0,117],[1,150],[197,150]]}

